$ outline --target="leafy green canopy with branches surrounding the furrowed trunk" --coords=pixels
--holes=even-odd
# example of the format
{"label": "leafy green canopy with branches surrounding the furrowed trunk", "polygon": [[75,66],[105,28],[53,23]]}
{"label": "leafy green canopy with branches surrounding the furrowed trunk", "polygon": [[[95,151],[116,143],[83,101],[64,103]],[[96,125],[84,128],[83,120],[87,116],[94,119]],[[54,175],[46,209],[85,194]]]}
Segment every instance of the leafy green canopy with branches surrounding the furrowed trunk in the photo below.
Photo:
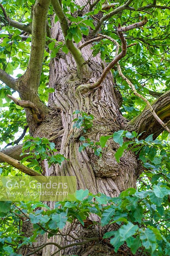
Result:
{"label": "leafy green canopy with branches surrounding the furrowed trunk", "polygon": [[[37,6],[41,5],[40,11]],[[94,116],[75,109],[71,113],[75,115],[73,128],[83,133],[79,152],[90,149],[100,158],[112,140],[118,145],[116,161],[120,162],[124,152],[132,151],[143,171],[137,189],[128,188],[118,197],[81,189],[72,200],[56,202],[55,209],[33,200],[16,203],[0,197],[0,255],[20,255],[19,248],[24,245],[33,248],[26,256],[39,252],[48,243],[34,248],[37,237],[60,235],[67,221],[71,228],[75,221],[86,228],[106,226],[102,237],[76,237],[68,247],[104,240],[116,253],[124,248],[127,255],[170,254],[169,14],[165,0],[1,1],[1,176],[38,176],[42,175],[44,159],[48,166],[69,161],[56,154],[53,138],[35,138],[32,132],[29,135],[26,118],[31,113],[38,125],[48,113],[49,95],[55,93],[49,86],[49,65],[62,54],[73,56],[80,77],[92,58],[100,56],[103,73],[99,80],[81,84],[78,90],[88,93],[100,88],[112,72],[120,111],[127,121],[124,130],[93,141],[86,132],[93,127]],[[51,36],[52,19],[60,24],[63,40]],[[89,44],[92,53],[85,59],[81,51]],[[34,94],[34,102],[27,97],[29,93]],[[90,214],[101,218],[100,224],[89,224]],[[30,236],[22,231],[25,221],[32,225]],[[55,254],[67,248],[53,244],[58,248]]]}

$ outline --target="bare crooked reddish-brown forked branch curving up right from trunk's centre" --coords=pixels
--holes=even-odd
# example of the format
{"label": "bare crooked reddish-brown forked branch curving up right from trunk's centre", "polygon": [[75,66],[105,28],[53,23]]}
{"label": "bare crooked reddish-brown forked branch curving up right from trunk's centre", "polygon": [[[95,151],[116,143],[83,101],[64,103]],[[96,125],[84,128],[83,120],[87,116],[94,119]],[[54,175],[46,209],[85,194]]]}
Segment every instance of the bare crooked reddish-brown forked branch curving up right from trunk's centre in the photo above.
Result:
{"label": "bare crooked reddish-brown forked branch curving up right from trunk's centre", "polygon": [[[101,76],[99,77],[99,80],[97,82],[95,82],[93,84],[82,84],[82,85],[78,86],[78,90],[80,90],[82,92],[88,92],[90,90],[98,88],[101,85],[101,83],[103,82],[103,80],[105,79],[105,77],[107,76],[108,72],[111,70],[111,68],[113,68],[115,66],[115,64],[126,55],[127,44],[126,44],[126,40],[125,40],[125,37],[123,36],[122,31],[128,31],[130,29],[134,29],[134,28],[138,28],[140,26],[144,26],[144,24],[146,24],[147,21],[148,21],[147,18],[144,17],[143,21],[131,24],[127,27],[121,27],[121,25],[119,24],[118,28],[117,28],[117,33],[118,33],[118,35],[121,39],[121,42],[122,42],[122,51],[117,56],[115,56],[115,59],[112,60],[106,68],[104,68],[103,73],[101,74]],[[119,47],[119,44],[113,38],[108,37],[108,36],[104,36],[104,35],[101,35],[101,34],[99,34],[99,35],[103,36],[107,39],[110,39],[114,44],[116,44],[117,47]]]}

